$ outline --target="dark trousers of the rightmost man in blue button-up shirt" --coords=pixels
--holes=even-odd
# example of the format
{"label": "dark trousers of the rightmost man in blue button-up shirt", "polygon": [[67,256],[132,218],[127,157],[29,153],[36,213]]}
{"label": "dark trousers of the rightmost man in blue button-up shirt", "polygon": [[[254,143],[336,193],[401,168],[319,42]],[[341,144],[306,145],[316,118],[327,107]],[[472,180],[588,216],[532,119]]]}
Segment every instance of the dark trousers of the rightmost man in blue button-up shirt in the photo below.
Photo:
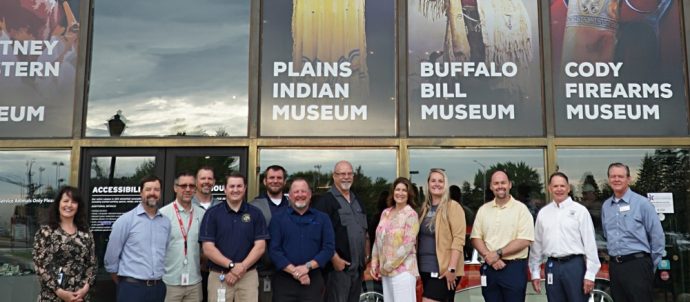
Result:
{"label": "dark trousers of the rightmost man in blue button-up shirt", "polygon": [[654,263],[649,256],[623,263],[609,262],[614,301],[654,301]]}

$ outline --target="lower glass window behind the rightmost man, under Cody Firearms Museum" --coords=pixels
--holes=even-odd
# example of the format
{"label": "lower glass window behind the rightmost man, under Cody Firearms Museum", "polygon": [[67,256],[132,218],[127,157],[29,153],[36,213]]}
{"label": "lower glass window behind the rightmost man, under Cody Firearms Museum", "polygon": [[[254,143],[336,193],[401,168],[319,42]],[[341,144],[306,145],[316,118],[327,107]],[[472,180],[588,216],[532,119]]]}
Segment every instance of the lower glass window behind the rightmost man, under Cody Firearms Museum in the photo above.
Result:
{"label": "lower glass window behind the rightmost man, under Cody Firearms Museum", "polygon": [[[666,256],[655,277],[655,301],[667,301],[669,295],[690,292],[690,220],[688,186],[690,185],[690,150],[655,149],[559,149],[558,169],[570,178],[573,198],[589,208],[597,231],[597,245],[602,264],[606,264],[606,241],[601,232],[601,206],[612,196],[607,168],[612,162],[630,167],[630,188],[643,195],[670,194],[670,200],[655,200],[661,226],[666,233]],[[602,266],[602,272],[607,265]],[[666,280],[664,280],[666,279]]]}

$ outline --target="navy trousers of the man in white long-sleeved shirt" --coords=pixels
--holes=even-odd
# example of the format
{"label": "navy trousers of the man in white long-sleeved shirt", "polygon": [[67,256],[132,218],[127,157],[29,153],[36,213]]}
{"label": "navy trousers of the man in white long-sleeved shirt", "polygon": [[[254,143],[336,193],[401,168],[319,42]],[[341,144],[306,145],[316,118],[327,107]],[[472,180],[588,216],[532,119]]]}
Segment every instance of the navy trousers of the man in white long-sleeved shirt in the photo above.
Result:
{"label": "navy trousers of the man in white long-sleeved shirt", "polygon": [[[585,279],[585,257],[575,256],[565,261],[549,258],[546,272],[546,298],[558,302],[587,302],[583,291]],[[552,284],[549,284],[549,274]]]}

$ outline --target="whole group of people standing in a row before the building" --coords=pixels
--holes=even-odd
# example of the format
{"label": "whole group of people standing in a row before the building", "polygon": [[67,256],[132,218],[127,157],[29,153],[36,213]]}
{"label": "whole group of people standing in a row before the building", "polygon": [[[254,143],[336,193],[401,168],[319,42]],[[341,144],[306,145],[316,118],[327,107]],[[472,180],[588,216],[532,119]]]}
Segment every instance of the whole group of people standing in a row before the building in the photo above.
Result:
{"label": "whole group of people standing in a row before the building", "polygon": [[[607,175],[614,195],[602,207],[602,222],[611,293],[616,301],[652,301],[664,253],[659,218],[630,190],[627,166],[611,164]],[[266,191],[247,202],[245,176],[227,175],[226,201],[219,202],[211,195],[211,167],[183,172],[175,200],[160,209],[161,180],[144,178],[141,203],[112,225],[104,257],[117,300],[355,302],[370,260],[368,273],[382,281],[386,301],[416,301],[418,278],[423,301],[453,301],[467,229],[443,169],[430,170],[419,214],[416,188],[397,178],[377,226],[367,226],[363,203],[350,190],[355,175],[347,161],[336,163],[332,188],[313,204],[305,179],[292,179],[286,197],[283,167],[269,166],[263,176]],[[511,196],[505,171],[491,175],[489,188],[495,198],[479,208],[470,235],[484,260],[485,301],[524,301],[528,270],[535,291],[545,279],[549,301],[587,301],[600,262],[592,219],[570,198],[568,177],[549,177],[553,202],[536,223]],[[97,265],[84,202],[65,187],[52,206],[34,244],[40,300],[88,301]]]}

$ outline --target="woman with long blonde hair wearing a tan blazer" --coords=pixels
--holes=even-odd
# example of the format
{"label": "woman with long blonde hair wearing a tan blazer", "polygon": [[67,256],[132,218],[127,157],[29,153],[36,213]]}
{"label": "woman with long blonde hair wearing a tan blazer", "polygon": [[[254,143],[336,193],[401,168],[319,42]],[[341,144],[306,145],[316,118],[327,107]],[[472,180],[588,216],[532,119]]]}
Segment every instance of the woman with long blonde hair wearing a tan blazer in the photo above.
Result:
{"label": "woman with long blonde hair wearing a tan blazer", "polygon": [[424,302],[453,301],[458,278],[464,275],[465,212],[450,199],[448,175],[431,169],[427,177],[418,240],[419,271]]}

